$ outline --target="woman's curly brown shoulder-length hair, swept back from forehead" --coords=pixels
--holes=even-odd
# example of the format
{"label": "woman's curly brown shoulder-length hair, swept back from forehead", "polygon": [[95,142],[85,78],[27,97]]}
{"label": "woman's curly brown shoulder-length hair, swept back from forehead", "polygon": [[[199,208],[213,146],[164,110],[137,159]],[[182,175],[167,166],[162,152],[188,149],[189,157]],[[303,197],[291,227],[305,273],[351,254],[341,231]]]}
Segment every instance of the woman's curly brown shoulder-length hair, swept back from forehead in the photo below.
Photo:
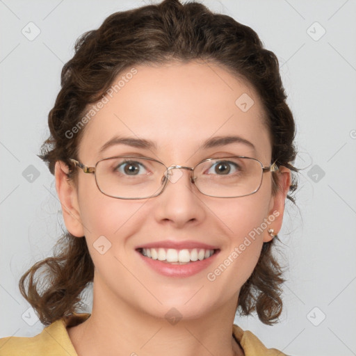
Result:
{"label": "woman's curly brown shoulder-length hair, swept back from forehead", "polygon": [[[296,127],[286,104],[279,63],[273,52],[264,49],[259,36],[250,27],[227,15],[212,13],[201,3],[165,0],[156,5],[113,13],[102,26],[81,35],[75,54],[63,67],[61,89],[49,112],[50,136],[39,155],[52,174],[56,161],[70,167],[68,179],[74,179],[70,157],[77,157],[83,129],[66,135],[110,88],[118,74],[133,65],[163,64],[170,60],[206,60],[224,67],[252,84],[268,118],[272,140],[272,160],[292,171],[288,198],[296,190],[296,158],[293,140]],[[67,137],[68,136],[68,137]],[[278,188],[273,173],[273,193]],[[276,236],[277,238],[277,236]],[[252,275],[243,284],[237,311],[257,312],[266,324],[277,322],[282,312],[282,267],[273,256],[275,239],[264,243]],[[40,290],[39,273],[47,288]],[[44,325],[78,312],[81,294],[93,280],[94,265],[84,236],[65,233],[55,246],[54,257],[38,261],[22,276],[19,289]],[[27,288],[26,280],[29,280]]]}

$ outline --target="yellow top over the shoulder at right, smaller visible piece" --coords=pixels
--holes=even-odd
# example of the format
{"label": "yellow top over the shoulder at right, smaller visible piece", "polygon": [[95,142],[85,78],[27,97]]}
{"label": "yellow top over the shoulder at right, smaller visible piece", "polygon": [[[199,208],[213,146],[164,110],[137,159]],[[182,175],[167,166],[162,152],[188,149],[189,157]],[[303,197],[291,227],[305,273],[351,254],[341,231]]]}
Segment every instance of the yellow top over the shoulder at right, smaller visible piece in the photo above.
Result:
{"label": "yellow top over the shoulder at right, smaller visible piece", "polygon": [[233,333],[243,348],[245,356],[286,356],[275,348],[266,348],[259,338],[252,332],[242,330],[238,325],[233,325]]}

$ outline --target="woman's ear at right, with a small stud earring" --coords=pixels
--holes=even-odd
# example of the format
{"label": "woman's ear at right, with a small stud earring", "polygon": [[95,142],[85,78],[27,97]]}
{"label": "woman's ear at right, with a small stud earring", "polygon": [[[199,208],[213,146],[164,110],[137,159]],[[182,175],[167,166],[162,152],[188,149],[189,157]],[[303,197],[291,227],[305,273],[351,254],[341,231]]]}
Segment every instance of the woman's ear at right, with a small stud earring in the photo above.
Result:
{"label": "woman's ear at right, with a small stud earring", "polygon": [[284,204],[286,202],[286,195],[291,186],[291,170],[289,168],[280,167],[277,171],[277,192],[271,197],[270,210],[268,211],[267,220],[270,222],[266,232],[264,233],[264,242],[271,241],[273,236],[268,233],[269,229],[273,229],[273,235],[277,235],[282,228],[282,221],[284,215]]}

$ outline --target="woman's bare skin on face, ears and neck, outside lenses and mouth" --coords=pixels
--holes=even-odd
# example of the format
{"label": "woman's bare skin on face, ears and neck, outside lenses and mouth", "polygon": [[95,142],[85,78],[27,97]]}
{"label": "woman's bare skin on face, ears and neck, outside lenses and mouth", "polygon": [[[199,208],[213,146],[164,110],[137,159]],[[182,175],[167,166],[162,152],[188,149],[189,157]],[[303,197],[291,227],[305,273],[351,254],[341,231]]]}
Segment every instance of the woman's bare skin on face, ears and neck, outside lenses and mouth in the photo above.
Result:
{"label": "woman's bare skin on face, ears and neck, outside lenses and mouth", "polygon": [[[86,125],[78,159],[88,165],[104,157],[138,153],[170,165],[193,167],[203,159],[230,154],[270,164],[270,136],[257,93],[247,83],[216,64],[170,62],[137,66],[138,73]],[[247,93],[254,105],[241,111],[235,101]],[[115,145],[99,148],[120,134],[154,140],[158,149]],[[247,145],[202,150],[211,136],[238,135]],[[120,200],[102,194],[94,175],[79,170],[78,185],[65,179],[67,168],[56,163],[56,189],[65,225],[74,236],[86,236],[95,264],[90,318],[68,329],[81,355],[243,355],[232,338],[238,293],[257,264],[267,230],[282,227],[291,172],[281,168],[280,190],[272,194],[270,172],[259,191],[237,198],[202,195],[189,181],[188,170],[165,191],[145,200]],[[243,242],[245,236],[279,211],[267,229],[216,280],[213,271]],[[111,248],[100,254],[93,247],[106,236]],[[186,278],[159,275],[147,268],[135,248],[171,238],[216,245],[220,253],[207,270]],[[175,308],[182,318],[171,325],[165,314]]]}

